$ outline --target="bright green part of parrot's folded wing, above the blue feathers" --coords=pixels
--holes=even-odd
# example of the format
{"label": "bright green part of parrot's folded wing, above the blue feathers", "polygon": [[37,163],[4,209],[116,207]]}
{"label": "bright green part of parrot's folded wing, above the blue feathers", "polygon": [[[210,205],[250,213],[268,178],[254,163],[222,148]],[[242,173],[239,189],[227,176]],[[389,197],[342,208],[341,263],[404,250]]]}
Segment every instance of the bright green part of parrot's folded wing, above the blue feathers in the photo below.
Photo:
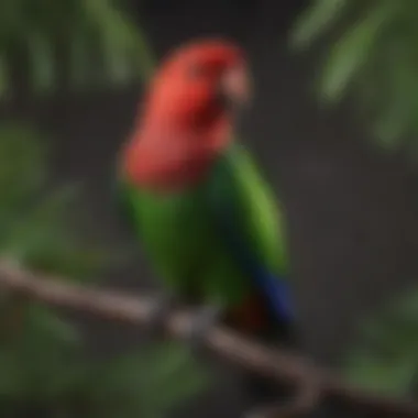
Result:
{"label": "bright green part of parrot's folded wing, above the blue feathers", "polygon": [[210,201],[216,218],[229,222],[233,228],[230,231],[240,233],[242,244],[270,272],[288,273],[284,210],[243,146],[234,144],[220,161],[211,182]]}

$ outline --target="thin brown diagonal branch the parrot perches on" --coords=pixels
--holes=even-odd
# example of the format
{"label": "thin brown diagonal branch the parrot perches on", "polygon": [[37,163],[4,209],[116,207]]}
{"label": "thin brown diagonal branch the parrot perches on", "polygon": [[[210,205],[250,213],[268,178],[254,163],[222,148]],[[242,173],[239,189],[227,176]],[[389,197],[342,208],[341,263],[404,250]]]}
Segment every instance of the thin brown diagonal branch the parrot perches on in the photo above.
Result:
{"label": "thin brown diagonal branch the parrot perches on", "polygon": [[[152,320],[152,297],[132,297],[111,290],[86,288],[68,284],[58,277],[40,276],[7,262],[0,262],[0,287],[50,305],[91,312],[109,320],[143,327]],[[193,326],[193,318],[190,311],[173,311],[166,318],[166,331],[172,337],[185,338]],[[300,411],[317,405],[319,399],[329,399],[367,413],[367,416],[418,417],[416,403],[350,386],[302,356],[261,345],[227,328],[209,329],[205,344],[210,351],[242,369],[295,387],[298,395],[295,405]],[[294,405],[279,416],[295,416],[292,415],[295,413],[293,408]]]}

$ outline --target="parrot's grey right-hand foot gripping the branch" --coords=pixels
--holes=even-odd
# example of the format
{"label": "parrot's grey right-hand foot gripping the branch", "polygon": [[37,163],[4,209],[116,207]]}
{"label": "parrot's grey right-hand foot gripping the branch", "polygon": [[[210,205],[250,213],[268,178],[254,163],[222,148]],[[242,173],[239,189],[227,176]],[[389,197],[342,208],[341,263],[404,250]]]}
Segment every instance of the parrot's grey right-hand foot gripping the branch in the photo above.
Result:
{"label": "parrot's grey right-hand foot gripping the branch", "polygon": [[186,337],[193,351],[199,353],[205,349],[207,331],[219,321],[223,309],[215,305],[207,305],[197,310]]}

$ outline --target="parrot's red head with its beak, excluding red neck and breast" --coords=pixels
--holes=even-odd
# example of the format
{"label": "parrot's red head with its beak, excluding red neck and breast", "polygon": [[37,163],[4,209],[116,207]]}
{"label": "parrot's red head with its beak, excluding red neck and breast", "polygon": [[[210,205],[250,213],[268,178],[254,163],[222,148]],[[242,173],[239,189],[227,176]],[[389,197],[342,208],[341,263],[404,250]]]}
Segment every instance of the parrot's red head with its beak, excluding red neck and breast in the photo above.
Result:
{"label": "parrot's red head with its beak, excluding red neck and breast", "polygon": [[[176,123],[210,123],[230,103],[246,101],[249,89],[242,51],[226,41],[197,41],[174,51],[151,85],[146,114]],[[216,121],[216,120],[215,120]]]}

